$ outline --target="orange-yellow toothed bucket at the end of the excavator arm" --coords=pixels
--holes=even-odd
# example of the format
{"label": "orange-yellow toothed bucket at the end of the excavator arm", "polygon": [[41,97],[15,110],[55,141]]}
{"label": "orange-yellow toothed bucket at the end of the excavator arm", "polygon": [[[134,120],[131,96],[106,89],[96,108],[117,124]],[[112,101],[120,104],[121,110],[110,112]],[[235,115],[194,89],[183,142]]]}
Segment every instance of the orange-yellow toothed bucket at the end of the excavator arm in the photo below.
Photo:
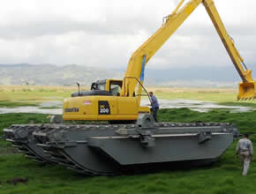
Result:
{"label": "orange-yellow toothed bucket at the end of the excavator arm", "polygon": [[237,100],[251,100],[256,98],[256,81],[239,83]]}

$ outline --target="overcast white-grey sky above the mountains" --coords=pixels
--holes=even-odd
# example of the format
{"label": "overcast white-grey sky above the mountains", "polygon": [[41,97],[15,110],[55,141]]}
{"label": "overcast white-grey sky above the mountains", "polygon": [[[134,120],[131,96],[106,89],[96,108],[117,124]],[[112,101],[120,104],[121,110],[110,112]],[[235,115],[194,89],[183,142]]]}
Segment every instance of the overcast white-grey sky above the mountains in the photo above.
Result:
{"label": "overcast white-grey sky above the mountains", "polygon": [[[0,63],[70,63],[125,69],[177,0],[8,0],[0,6]],[[256,1],[215,0],[245,63],[256,65]],[[203,5],[149,69],[232,65]]]}

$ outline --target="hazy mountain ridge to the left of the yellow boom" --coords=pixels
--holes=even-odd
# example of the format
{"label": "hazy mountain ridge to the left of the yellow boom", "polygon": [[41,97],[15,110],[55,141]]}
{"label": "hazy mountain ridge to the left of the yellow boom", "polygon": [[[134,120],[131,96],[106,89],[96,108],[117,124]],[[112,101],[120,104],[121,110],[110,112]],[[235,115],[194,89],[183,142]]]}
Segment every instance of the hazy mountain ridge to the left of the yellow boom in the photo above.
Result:
{"label": "hazy mountain ridge to the left of the yellow boom", "polygon": [[79,81],[83,86],[90,86],[98,79],[123,76],[121,72],[76,64],[0,64],[1,85],[24,85],[27,82],[30,85],[70,86]]}

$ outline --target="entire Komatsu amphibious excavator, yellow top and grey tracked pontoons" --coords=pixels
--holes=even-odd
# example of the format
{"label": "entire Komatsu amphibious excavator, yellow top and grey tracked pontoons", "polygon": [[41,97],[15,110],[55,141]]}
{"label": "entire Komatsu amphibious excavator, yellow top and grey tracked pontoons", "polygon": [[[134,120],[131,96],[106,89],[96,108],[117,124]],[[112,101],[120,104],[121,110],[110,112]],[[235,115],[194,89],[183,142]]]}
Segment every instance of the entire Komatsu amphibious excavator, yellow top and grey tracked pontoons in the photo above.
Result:
{"label": "entire Komatsu amphibious excavator, yellow top and grey tracked pontoons", "polygon": [[243,80],[237,99],[256,97],[251,71],[227,34],[214,1],[183,4],[181,0],[160,29],[133,53],[123,80],[97,81],[90,91],[72,93],[64,100],[64,120],[110,123],[74,124],[52,119],[53,123],[16,124],[4,129],[5,139],[29,158],[87,175],[136,173],[169,162],[215,161],[239,135],[232,123],[154,123],[149,108],[140,107],[147,62],[200,4],[205,6]]}

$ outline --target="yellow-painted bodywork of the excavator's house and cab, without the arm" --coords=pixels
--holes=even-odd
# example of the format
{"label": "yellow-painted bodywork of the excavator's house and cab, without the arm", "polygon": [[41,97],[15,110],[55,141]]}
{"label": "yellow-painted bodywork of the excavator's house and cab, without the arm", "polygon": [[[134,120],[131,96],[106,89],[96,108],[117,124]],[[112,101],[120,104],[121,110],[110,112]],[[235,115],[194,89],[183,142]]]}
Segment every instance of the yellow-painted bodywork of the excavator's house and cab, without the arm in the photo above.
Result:
{"label": "yellow-painted bodywork of the excavator's house and cab, without the arm", "polygon": [[[118,79],[108,79],[106,90],[109,91],[111,81]],[[107,108],[100,105],[99,101],[109,102],[109,115],[99,115],[99,108]],[[139,112],[150,113],[148,107],[138,106],[138,97],[122,96],[79,96],[64,100],[63,118],[64,120],[137,120]],[[77,110],[79,111],[65,111]]]}

